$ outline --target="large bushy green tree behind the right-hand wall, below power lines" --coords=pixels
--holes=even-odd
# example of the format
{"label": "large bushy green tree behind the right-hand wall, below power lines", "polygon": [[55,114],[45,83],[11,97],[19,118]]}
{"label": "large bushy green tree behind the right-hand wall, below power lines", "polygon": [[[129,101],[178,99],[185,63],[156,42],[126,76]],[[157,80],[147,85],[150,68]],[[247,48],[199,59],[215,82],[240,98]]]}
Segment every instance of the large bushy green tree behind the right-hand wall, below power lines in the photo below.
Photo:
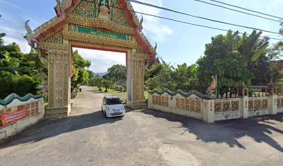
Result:
{"label": "large bushy green tree behind the right-hand wall, below power lines", "polygon": [[198,79],[203,85],[203,92],[211,82],[211,75],[218,75],[218,91],[221,95],[232,93],[245,82],[250,85],[252,68],[255,61],[264,54],[268,42],[260,40],[261,32],[256,30],[247,36],[244,33],[232,33],[212,37],[212,43],[205,45],[205,56],[198,59]]}

